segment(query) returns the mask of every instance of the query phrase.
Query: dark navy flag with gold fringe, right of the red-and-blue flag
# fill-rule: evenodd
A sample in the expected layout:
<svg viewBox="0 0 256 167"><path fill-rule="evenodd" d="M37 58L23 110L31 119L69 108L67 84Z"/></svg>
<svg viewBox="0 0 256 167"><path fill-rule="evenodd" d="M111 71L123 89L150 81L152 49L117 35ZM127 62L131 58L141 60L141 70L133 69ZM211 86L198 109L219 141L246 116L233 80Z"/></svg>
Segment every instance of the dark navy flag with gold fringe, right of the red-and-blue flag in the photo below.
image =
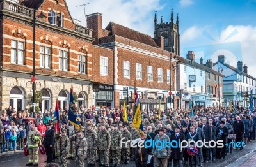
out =
<svg viewBox="0 0 256 167"><path fill-rule="evenodd" d="M69 110L68 110L68 122L72 125L74 125L75 127L77 127L77 129L80 129L79 126L79 122L77 121L77 116L76 116L76 103L74 100L74 92L73 92L73 85L71 86L70 89L70 100L69 100Z"/></svg>

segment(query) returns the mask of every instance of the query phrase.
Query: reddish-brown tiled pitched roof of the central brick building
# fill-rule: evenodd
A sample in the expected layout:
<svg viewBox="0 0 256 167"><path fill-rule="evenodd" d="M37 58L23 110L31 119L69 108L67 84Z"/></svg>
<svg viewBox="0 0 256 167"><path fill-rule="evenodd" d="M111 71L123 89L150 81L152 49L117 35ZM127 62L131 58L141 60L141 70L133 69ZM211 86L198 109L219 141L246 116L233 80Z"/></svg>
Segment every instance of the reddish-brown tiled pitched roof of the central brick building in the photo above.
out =
<svg viewBox="0 0 256 167"><path fill-rule="evenodd" d="M110 31L109 35L122 36L129 40L138 41L140 43L144 43L146 45L158 48L156 42L151 38L151 36L140 33L133 29L129 29L127 27L124 27L123 25L115 24L114 22L109 22L105 29Z"/></svg>

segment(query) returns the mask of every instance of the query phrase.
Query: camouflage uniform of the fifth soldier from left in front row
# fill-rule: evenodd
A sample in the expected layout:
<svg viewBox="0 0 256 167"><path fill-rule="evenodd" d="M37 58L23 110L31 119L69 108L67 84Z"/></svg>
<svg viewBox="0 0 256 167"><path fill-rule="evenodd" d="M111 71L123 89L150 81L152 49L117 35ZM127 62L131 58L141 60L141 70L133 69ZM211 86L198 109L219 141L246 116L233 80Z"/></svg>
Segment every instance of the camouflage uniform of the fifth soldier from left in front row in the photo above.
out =
<svg viewBox="0 0 256 167"><path fill-rule="evenodd" d="M114 164L120 164L121 161L121 138L122 138L122 133L115 129L113 131L113 135L111 137L111 150L113 154L113 163Z"/></svg>

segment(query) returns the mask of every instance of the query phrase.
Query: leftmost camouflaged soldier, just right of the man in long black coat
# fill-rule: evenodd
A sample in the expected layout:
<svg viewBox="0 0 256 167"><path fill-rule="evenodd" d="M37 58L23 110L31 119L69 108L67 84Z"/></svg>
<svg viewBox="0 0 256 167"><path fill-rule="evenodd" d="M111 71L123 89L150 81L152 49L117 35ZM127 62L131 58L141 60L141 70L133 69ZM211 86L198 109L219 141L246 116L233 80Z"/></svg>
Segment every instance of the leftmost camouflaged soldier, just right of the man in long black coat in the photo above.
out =
<svg viewBox="0 0 256 167"><path fill-rule="evenodd" d="M67 156L69 152L69 138L67 136L67 129L62 129L60 134L60 147L58 149L58 157L61 167L67 167Z"/></svg>

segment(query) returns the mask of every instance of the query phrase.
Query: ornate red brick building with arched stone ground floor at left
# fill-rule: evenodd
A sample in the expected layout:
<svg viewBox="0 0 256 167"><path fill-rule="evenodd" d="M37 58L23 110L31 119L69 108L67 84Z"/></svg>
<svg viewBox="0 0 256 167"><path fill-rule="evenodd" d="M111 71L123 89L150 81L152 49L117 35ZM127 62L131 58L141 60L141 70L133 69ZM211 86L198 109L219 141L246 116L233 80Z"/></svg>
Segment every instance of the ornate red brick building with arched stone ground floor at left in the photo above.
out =
<svg viewBox="0 0 256 167"><path fill-rule="evenodd" d="M42 111L49 110L58 98L64 108L71 85L78 96L77 105L92 105L93 64L99 61L99 56L93 55L108 57L113 51L92 45L92 30L74 24L64 0L3 0L0 7L0 109L31 106L34 8L36 16L45 15L36 17L35 29L35 89L43 93L38 105Z"/></svg>

